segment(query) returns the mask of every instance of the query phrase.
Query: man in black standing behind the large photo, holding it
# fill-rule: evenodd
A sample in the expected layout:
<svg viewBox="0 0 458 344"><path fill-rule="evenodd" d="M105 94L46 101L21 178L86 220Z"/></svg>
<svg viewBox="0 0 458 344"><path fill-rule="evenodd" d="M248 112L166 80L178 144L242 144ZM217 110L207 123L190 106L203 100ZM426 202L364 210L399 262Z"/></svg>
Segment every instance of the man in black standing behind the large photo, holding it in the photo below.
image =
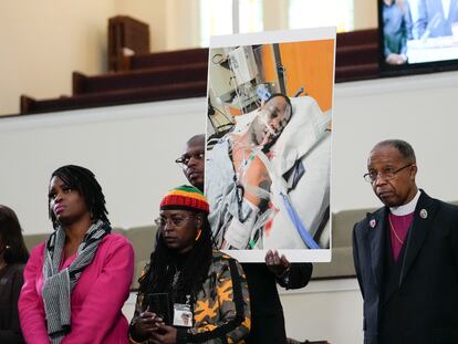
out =
<svg viewBox="0 0 458 344"><path fill-rule="evenodd" d="M205 135L192 136L185 153L177 160L185 176L196 188L204 191ZM190 178L192 176L194 178ZM263 263L242 263L250 292L251 331L247 343L287 343L283 309L277 282L287 289L303 288L309 283L313 265L290 263L284 254L269 250Z"/></svg>

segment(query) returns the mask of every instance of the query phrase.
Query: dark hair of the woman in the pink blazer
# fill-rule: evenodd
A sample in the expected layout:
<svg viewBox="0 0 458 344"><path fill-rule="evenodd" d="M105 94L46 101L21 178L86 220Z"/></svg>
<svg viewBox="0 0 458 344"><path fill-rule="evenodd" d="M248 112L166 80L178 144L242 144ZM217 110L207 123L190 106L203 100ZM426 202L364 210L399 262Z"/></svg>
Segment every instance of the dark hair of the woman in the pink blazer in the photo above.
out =
<svg viewBox="0 0 458 344"><path fill-rule="evenodd" d="M108 211L105 208L105 196L102 187L95 179L94 174L87 168L66 165L58 168L51 175L51 179L59 177L67 187L77 190L83 196L87 209L91 212L92 220L95 222L102 220L110 223L107 218ZM54 228L59 225L54 211L51 209L51 200L48 199L48 210Z"/></svg>

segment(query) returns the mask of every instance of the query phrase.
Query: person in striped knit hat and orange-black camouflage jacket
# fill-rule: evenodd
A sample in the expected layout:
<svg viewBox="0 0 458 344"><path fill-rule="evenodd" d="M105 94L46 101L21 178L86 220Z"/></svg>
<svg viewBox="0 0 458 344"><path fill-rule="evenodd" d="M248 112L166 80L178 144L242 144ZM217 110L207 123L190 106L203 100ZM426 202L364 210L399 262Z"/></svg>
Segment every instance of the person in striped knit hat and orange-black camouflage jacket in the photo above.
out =
<svg viewBox="0 0 458 344"><path fill-rule="evenodd" d="M208 211L204 194L191 186L163 198L162 230L139 280L132 343L243 343L250 330L247 282L235 259L214 251ZM164 293L168 306L159 310L153 300Z"/></svg>

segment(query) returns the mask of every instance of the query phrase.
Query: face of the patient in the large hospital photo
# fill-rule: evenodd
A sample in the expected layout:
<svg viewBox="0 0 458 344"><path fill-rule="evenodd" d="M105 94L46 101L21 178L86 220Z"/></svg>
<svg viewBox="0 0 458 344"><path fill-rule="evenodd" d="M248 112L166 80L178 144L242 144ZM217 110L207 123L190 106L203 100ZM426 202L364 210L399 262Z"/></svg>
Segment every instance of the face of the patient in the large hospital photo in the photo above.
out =
<svg viewBox="0 0 458 344"><path fill-rule="evenodd" d="M291 118L291 106L275 96L262 106L253 123L253 140L261 146L277 139Z"/></svg>

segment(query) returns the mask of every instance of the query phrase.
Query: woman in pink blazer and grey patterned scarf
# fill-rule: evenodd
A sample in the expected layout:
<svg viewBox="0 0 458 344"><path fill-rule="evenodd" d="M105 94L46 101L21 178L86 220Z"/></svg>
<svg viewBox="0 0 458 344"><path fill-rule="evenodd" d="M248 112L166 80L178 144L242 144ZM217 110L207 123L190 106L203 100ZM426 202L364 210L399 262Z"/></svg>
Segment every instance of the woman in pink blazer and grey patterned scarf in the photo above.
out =
<svg viewBox="0 0 458 344"><path fill-rule="evenodd" d="M58 168L48 191L54 232L35 247L24 270L19 315L28 343L128 343L122 306L128 298L134 250L112 233L94 174Z"/></svg>

